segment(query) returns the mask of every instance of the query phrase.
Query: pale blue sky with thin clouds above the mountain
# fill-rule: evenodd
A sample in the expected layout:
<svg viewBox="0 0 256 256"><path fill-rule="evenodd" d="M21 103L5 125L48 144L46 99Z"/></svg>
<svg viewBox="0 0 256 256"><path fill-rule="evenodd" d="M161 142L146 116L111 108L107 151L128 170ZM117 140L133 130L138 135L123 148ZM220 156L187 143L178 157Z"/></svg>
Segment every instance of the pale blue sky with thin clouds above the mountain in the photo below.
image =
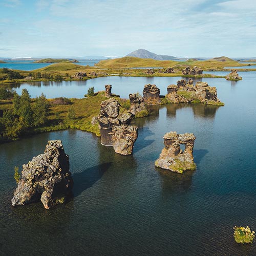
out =
<svg viewBox="0 0 256 256"><path fill-rule="evenodd" d="M0 0L0 57L256 56L254 0Z"/></svg>

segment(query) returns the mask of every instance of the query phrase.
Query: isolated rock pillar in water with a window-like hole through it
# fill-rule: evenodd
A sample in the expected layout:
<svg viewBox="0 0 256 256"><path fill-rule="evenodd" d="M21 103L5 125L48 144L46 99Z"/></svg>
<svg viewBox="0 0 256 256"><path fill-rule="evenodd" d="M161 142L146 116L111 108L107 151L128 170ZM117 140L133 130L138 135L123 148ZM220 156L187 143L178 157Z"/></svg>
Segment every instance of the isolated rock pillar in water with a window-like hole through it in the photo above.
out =
<svg viewBox="0 0 256 256"><path fill-rule="evenodd" d="M157 167L176 173L196 169L193 157L196 137L193 133L177 134L177 132L169 132L163 138L165 147L155 162ZM180 148L181 144L185 145L184 151Z"/></svg>

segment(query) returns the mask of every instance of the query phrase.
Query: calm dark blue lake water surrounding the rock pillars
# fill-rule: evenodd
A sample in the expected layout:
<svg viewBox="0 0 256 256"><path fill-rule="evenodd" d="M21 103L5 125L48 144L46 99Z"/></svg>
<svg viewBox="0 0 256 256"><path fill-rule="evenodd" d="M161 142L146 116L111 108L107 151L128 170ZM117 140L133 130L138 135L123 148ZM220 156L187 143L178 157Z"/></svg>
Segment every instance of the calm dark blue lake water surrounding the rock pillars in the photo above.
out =
<svg viewBox="0 0 256 256"><path fill-rule="evenodd" d="M256 72L240 75L238 82L202 79L217 87L225 106L152 106L151 116L134 121L139 137L132 156L76 130L0 145L0 255L255 256L255 241L236 244L232 229L256 231ZM26 87L33 97L42 91L82 98L88 87L110 83L113 93L128 97L146 83L165 94L178 79L104 77ZM169 131L197 137L195 172L155 168ZM50 210L41 203L12 207L13 167L21 169L52 139L61 139L70 156L74 199Z"/></svg>

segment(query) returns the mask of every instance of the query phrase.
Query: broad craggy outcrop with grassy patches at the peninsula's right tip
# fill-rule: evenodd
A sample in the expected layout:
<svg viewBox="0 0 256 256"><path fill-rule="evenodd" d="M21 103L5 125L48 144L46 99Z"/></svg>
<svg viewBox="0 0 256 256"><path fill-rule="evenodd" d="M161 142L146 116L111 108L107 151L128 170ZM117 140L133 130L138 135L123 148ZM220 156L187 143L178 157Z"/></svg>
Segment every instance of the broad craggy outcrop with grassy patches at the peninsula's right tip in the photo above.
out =
<svg viewBox="0 0 256 256"><path fill-rule="evenodd" d="M202 102L205 104L224 105L217 97L216 87L210 87L207 82L188 82L184 79L177 81L177 85L167 87L166 98L172 103Z"/></svg>

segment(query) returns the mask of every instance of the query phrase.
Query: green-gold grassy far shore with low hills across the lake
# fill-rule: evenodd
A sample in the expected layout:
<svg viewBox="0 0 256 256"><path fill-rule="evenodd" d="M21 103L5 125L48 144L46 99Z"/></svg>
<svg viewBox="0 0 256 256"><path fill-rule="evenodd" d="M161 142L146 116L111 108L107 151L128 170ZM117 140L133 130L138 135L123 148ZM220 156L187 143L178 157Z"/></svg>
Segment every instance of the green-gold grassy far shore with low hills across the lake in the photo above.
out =
<svg viewBox="0 0 256 256"><path fill-rule="evenodd" d="M75 77L75 73L77 72L87 73L87 76L82 78L83 80L102 76L183 76L224 78L224 76L216 76L212 74L182 75L182 70L184 68L193 68L194 66L198 66L204 71L231 70L224 69L225 67L237 67L238 71L256 71L256 66L255 69L239 69L239 67L244 66L244 64L227 57L220 57L205 61L193 59L189 59L187 61L173 61L123 57L118 59L101 60L93 67L80 66L71 63L70 61L61 61L33 71L9 70L8 73L6 69L0 69L0 84L24 81L77 80ZM154 73L147 74L147 67L154 67ZM164 73L165 70L170 67L174 68L175 73ZM15 72L16 74L14 74Z"/></svg>

